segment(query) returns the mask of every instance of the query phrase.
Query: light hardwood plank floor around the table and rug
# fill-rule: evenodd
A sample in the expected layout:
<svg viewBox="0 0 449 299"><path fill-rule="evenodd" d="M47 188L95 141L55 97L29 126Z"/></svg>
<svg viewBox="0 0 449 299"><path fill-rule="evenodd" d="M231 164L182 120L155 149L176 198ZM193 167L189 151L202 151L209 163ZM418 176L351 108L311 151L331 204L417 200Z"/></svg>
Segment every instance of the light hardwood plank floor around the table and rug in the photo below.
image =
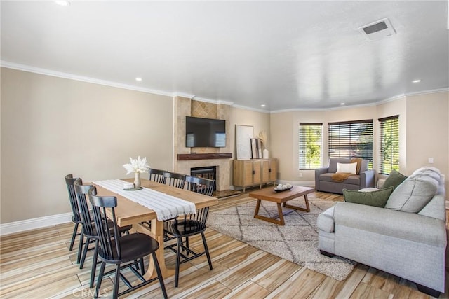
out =
<svg viewBox="0 0 449 299"><path fill-rule="evenodd" d="M253 200L246 193L220 200L213 210ZM341 195L328 193L311 196L342 200ZM92 251L80 270L77 244L73 251L68 249L72 230L73 224L67 223L1 237L0 298L92 298L93 289L88 288ZM184 264L178 288L174 277L165 279L170 298L429 298L410 281L365 265L356 265L346 280L336 281L210 229L206 238L213 270L206 257ZM191 244L202 246L199 238ZM166 251L166 260L173 266L173 253ZM111 289L109 277L102 283L100 298L108 298ZM128 298L161 298L159 284L138 289Z"/></svg>

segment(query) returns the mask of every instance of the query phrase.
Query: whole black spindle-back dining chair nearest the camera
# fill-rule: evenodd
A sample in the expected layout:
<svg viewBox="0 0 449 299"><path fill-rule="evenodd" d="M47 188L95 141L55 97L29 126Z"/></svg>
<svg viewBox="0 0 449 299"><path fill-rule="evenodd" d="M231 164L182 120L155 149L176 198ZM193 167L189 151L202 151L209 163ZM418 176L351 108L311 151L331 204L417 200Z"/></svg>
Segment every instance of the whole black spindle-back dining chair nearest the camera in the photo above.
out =
<svg viewBox="0 0 449 299"><path fill-rule="evenodd" d="M118 298L121 295L135 291L137 288L146 286L147 284L159 279L163 298L167 298L165 284L163 284L163 277L161 268L156 257L156 250L159 249L159 243L149 235L135 232L130 235L120 235L119 226L116 223L115 208L117 207L117 198L114 196L98 196L97 188L88 191L89 201L93 208L93 218L95 221L95 228L97 229L100 247L98 248L98 258L101 261L100 274L98 274L97 285L95 286L94 297L98 298L98 291L100 290L101 282L104 275L115 272L114 277L114 293L112 298ZM107 221L107 214L112 221ZM114 232L114 233L112 233ZM145 267L143 258L152 255L154 261L154 268L157 277L145 280ZM105 273L106 264L114 264L115 270ZM140 272L137 269L140 265ZM142 282L132 286L128 279L121 274L121 269L128 267ZM125 291L119 293L120 279L128 286Z"/></svg>

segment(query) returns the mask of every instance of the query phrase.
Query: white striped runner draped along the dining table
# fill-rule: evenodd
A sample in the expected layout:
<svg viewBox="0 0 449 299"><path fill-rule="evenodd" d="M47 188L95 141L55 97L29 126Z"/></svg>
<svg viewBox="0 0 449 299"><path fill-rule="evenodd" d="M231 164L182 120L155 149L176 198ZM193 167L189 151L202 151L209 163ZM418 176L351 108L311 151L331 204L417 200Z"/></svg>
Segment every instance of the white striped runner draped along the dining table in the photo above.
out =
<svg viewBox="0 0 449 299"><path fill-rule="evenodd" d="M182 200L178 197L161 193L149 188L143 188L142 190L123 190L123 183L119 179L94 181L95 185L117 193L123 197L142 204L142 206L152 209L156 212L157 220L163 221L170 218L175 218L180 215L195 214L196 207L192 202Z"/></svg>

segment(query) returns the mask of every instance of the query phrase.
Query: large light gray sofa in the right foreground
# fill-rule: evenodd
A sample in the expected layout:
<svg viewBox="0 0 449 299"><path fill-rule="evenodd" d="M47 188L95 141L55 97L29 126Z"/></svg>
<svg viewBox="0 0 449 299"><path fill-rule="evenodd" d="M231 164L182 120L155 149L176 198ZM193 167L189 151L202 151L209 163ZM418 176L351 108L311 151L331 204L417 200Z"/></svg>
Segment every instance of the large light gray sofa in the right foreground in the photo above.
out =
<svg viewBox="0 0 449 299"><path fill-rule="evenodd" d="M394 188L384 207L337 202L319 215L317 225L322 254L408 279L436 298L444 293L445 190L438 169L417 169Z"/></svg>

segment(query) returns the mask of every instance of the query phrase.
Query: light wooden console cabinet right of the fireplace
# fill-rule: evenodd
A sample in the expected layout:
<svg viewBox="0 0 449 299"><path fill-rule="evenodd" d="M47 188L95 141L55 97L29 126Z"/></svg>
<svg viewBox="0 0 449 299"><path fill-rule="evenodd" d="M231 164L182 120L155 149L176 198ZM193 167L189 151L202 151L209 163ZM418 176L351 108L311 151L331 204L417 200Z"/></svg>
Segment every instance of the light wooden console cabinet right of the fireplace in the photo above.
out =
<svg viewBox="0 0 449 299"><path fill-rule="evenodd" d="M232 184L243 187L243 192L250 186L262 188L264 183L274 183L277 173L277 159L234 160Z"/></svg>

